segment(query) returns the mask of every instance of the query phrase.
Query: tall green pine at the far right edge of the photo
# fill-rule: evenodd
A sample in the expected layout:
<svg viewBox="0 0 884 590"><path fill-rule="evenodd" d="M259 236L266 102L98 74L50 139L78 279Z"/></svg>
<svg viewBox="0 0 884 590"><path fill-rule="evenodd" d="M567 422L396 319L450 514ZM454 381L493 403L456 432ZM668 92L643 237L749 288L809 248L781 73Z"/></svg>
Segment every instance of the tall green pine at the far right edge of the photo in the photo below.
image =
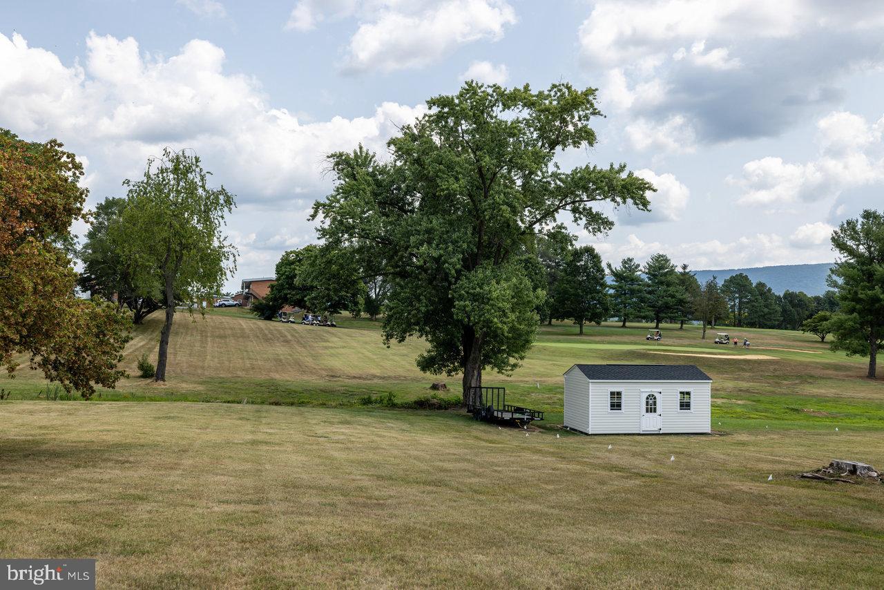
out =
<svg viewBox="0 0 884 590"><path fill-rule="evenodd" d="M840 255L829 276L841 311L828 326L832 349L869 357L869 379L875 379L878 350L884 346L884 215L865 210L832 234Z"/></svg>

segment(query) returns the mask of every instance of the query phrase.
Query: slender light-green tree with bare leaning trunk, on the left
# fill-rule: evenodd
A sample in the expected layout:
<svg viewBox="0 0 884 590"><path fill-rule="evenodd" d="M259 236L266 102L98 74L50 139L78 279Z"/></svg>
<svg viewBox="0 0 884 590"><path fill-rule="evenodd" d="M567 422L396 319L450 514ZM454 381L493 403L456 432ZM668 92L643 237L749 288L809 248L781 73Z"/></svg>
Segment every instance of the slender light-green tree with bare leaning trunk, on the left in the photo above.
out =
<svg viewBox="0 0 884 590"><path fill-rule="evenodd" d="M162 294L165 321L156 356L157 381L164 381L176 302L193 309L220 291L236 262L236 249L223 234L225 214L235 206L223 186L209 186L210 172L187 151L164 149L151 157L141 180L128 187L123 224L126 259L141 296ZM202 310L202 307L200 307Z"/></svg>

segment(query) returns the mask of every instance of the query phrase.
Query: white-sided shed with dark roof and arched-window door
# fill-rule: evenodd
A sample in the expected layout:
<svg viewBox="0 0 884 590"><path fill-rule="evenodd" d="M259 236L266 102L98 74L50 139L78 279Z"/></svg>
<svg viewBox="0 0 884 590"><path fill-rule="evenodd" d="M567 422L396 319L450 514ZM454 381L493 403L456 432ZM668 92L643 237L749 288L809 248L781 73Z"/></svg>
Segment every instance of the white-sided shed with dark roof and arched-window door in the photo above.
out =
<svg viewBox="0 0 884 590"><path fill-rule="evenodd" d="M575 364L565 427L587 434L708 433L712 383L693 364Z"/></svg>

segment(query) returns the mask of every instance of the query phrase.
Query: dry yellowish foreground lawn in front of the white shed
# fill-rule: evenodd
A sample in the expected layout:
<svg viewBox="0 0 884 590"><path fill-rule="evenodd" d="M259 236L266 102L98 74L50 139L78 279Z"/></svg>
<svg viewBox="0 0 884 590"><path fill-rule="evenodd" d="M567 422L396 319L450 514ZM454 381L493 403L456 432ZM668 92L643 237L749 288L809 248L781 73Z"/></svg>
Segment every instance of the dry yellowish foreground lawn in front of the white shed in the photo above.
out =
<svg viewBox="0 0 884 590"><path fill-rule="evenodd" d="M884 436L854 428L557 438L455 412L211 403L3 402L0 419L0 555L95 557L100 587L884 574L884 487L795 478L880 463Z"/></svg>

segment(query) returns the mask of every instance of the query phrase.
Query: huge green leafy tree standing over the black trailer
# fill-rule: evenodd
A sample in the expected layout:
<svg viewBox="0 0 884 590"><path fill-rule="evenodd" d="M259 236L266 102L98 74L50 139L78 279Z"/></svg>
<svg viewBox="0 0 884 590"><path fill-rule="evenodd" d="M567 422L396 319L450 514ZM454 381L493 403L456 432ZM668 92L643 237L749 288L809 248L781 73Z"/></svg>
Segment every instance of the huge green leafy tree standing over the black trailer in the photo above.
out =
<svg viewBox="0 0 884 590"><path fill-rule="evenodd" d="M556 160L596 143L596 90L553 84L547 91L467 82L427 101L380 161L362 146L330 156L334 190L314 206L331 247L363 248L384 261L389 281L383 335L423 338L424 372L463 373L464 395L482 372L512 372L537 331L538 237L569 216L589 234L613 221L602 211L648 211L646 180L625 164Z"/></svg>

